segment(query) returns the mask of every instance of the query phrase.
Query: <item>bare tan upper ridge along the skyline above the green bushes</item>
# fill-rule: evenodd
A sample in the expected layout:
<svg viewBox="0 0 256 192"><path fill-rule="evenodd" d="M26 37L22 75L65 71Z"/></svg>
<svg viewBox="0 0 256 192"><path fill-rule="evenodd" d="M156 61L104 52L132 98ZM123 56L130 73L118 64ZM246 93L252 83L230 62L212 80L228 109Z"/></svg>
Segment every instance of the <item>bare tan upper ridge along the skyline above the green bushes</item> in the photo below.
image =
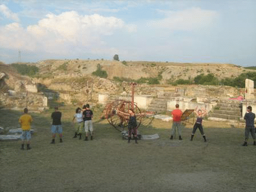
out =
<svg viewBox="0 0 256 192"><path fill-rule="evenodd" d="M107 60L46 60L33 63L40 69L40 77L81 77L93 73L100 65L107 71L107 78L123 77L139 79L141 77L158 77L162 75L161 84L168 79L193 79L197 75L212 73L219 79L237 77L249 69L225 63L167 63L146 61L107 61Z"/></svg>

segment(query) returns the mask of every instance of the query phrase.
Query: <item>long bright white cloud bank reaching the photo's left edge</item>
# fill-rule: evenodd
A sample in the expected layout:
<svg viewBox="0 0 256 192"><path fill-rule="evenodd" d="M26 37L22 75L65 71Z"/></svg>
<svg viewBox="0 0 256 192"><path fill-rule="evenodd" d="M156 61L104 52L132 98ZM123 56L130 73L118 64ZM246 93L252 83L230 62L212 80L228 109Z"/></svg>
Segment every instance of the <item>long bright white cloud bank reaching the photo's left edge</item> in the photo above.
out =
<svg viewBox="0 0 256 192"><path fill-rule="evenodd" d="M117 30L132 32L135 29L136 26L125 25L122 19L116 17L103 17L99 14L79 15L76 11L59 15L51 13L36 25L27 28L23 28L19 23L0 27L0 46L9 49L22 47L31 51L69 53L83 48L96 50L105 43L107 49L104 37L113 35Z"/></svg>

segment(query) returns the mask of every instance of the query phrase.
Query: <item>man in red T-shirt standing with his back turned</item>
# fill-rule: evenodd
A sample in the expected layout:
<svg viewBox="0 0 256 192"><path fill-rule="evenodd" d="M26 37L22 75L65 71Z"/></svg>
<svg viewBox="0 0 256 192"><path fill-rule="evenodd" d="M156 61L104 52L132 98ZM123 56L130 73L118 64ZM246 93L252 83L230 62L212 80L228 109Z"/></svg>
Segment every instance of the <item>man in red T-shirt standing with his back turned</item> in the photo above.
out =
<svg viewBox="0 0 256 192"><path fill-rule="evenodd" d="M171 137L170 139L173 139L173 135L175 134L175 129L178 129L179 133L179 140L182 140L181 138L181 115L182 111L179 109L179 104L175 105L176 109L174 109L171 114L173 115L173 129L171 129Z"/></svg>

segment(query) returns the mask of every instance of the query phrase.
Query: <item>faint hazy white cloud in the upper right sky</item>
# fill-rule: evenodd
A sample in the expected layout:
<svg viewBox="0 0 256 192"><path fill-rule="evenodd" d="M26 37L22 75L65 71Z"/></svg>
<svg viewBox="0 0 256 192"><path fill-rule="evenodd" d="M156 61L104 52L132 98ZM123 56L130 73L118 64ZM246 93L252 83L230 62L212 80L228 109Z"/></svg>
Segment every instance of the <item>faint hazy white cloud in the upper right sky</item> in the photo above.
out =
<svg viewBox="0 0 256 192"><path fill-rule="evenodd" d="M195 30L213 24L218 18L217 11L202 10L198 7L182 11L161 11L166 18L160 21L151 21L150 27L167 28L170 30Z"/></svg>

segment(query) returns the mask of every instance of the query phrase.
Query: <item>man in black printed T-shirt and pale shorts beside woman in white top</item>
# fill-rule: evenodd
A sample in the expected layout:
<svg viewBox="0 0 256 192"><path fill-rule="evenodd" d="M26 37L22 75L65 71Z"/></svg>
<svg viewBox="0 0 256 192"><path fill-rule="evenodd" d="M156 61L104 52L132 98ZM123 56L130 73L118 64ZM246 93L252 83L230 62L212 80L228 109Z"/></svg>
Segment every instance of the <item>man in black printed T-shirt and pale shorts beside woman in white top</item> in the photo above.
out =
<svg viewBox="0 0 256 192"><path fill-rule="evenodd" d="M93 122L91 118L93 118L93 111L90 110L90 105L85 105L86 109L83 111L83 121L85 122L85 141L88 141L89 130L91 132L91 140L93 140Z"/></svg>

